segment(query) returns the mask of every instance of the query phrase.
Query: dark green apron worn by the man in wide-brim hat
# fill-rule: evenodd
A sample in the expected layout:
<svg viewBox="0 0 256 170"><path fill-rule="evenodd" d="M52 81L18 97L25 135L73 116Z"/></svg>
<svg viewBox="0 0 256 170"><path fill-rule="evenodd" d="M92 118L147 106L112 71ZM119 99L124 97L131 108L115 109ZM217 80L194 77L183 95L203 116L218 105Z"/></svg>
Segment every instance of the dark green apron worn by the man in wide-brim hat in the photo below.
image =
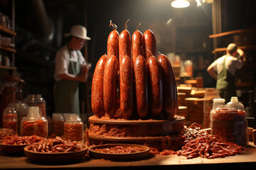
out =
<svg viewBox="0 0 256 170"><path fill-rule="evenodd" d="M70 50L68 49L69 56ZM78 55L78 51L77 51ZM68 74L80 74L80 62L69 62ZM55 84L55 113L80 114L79 81L60 80Z"/></svg>

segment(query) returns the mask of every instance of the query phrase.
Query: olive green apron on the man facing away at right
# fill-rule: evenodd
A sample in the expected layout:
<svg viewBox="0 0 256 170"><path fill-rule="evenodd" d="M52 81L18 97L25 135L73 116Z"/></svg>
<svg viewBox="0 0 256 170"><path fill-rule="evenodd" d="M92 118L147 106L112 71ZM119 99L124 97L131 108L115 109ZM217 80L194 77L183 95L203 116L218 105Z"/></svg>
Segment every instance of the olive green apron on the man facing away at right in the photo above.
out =
<svg viewBox="0 0 256 170"><path fill-rule="evenodd" d="M230 101L235 94L235 76L233 76L225 67L225 60L223 62L223 69L218 74L216 89L220 92L220 98L225 98L225 103Z"/></svg>

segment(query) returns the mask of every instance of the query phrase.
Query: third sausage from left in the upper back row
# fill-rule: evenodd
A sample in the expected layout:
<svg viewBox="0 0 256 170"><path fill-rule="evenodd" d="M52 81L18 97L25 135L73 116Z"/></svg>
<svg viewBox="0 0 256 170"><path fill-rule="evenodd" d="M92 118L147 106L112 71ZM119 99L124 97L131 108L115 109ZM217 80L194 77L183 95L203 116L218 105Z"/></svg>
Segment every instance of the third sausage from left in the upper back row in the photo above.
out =
<svg viewBox="0 0 256 170"><path fill-rule="evenodd" d="M139 55L144 56L143 35L139 30L135 30L132 34L132 64Z"/></svg>

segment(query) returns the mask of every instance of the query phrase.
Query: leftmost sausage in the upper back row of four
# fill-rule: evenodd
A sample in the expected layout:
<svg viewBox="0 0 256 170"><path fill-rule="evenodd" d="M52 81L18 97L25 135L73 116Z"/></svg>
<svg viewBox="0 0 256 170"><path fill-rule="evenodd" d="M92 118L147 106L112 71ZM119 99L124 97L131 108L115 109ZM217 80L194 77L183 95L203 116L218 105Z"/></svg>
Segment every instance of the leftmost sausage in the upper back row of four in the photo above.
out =
<svg viewBox="0 0 256 170"><path fill-rule="evenodd" d="M117 30L112 30L107 38L107 56L114 55L118 57L118 42L119 33L117 32Z"/></svg>

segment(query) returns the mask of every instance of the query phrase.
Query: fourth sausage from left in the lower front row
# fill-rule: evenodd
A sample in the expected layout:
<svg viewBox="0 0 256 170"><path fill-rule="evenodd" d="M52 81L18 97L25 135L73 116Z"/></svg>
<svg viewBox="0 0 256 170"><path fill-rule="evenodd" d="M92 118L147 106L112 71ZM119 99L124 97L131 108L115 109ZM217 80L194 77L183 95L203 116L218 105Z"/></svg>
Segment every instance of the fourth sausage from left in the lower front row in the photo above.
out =
<svg viewBox="0 0 256 170"><path fill-rule="evenodd" d="M149 110L149 95L146 74L146 60L139 55L134 62L137 113L139 118L146 118Z"/></svg>

